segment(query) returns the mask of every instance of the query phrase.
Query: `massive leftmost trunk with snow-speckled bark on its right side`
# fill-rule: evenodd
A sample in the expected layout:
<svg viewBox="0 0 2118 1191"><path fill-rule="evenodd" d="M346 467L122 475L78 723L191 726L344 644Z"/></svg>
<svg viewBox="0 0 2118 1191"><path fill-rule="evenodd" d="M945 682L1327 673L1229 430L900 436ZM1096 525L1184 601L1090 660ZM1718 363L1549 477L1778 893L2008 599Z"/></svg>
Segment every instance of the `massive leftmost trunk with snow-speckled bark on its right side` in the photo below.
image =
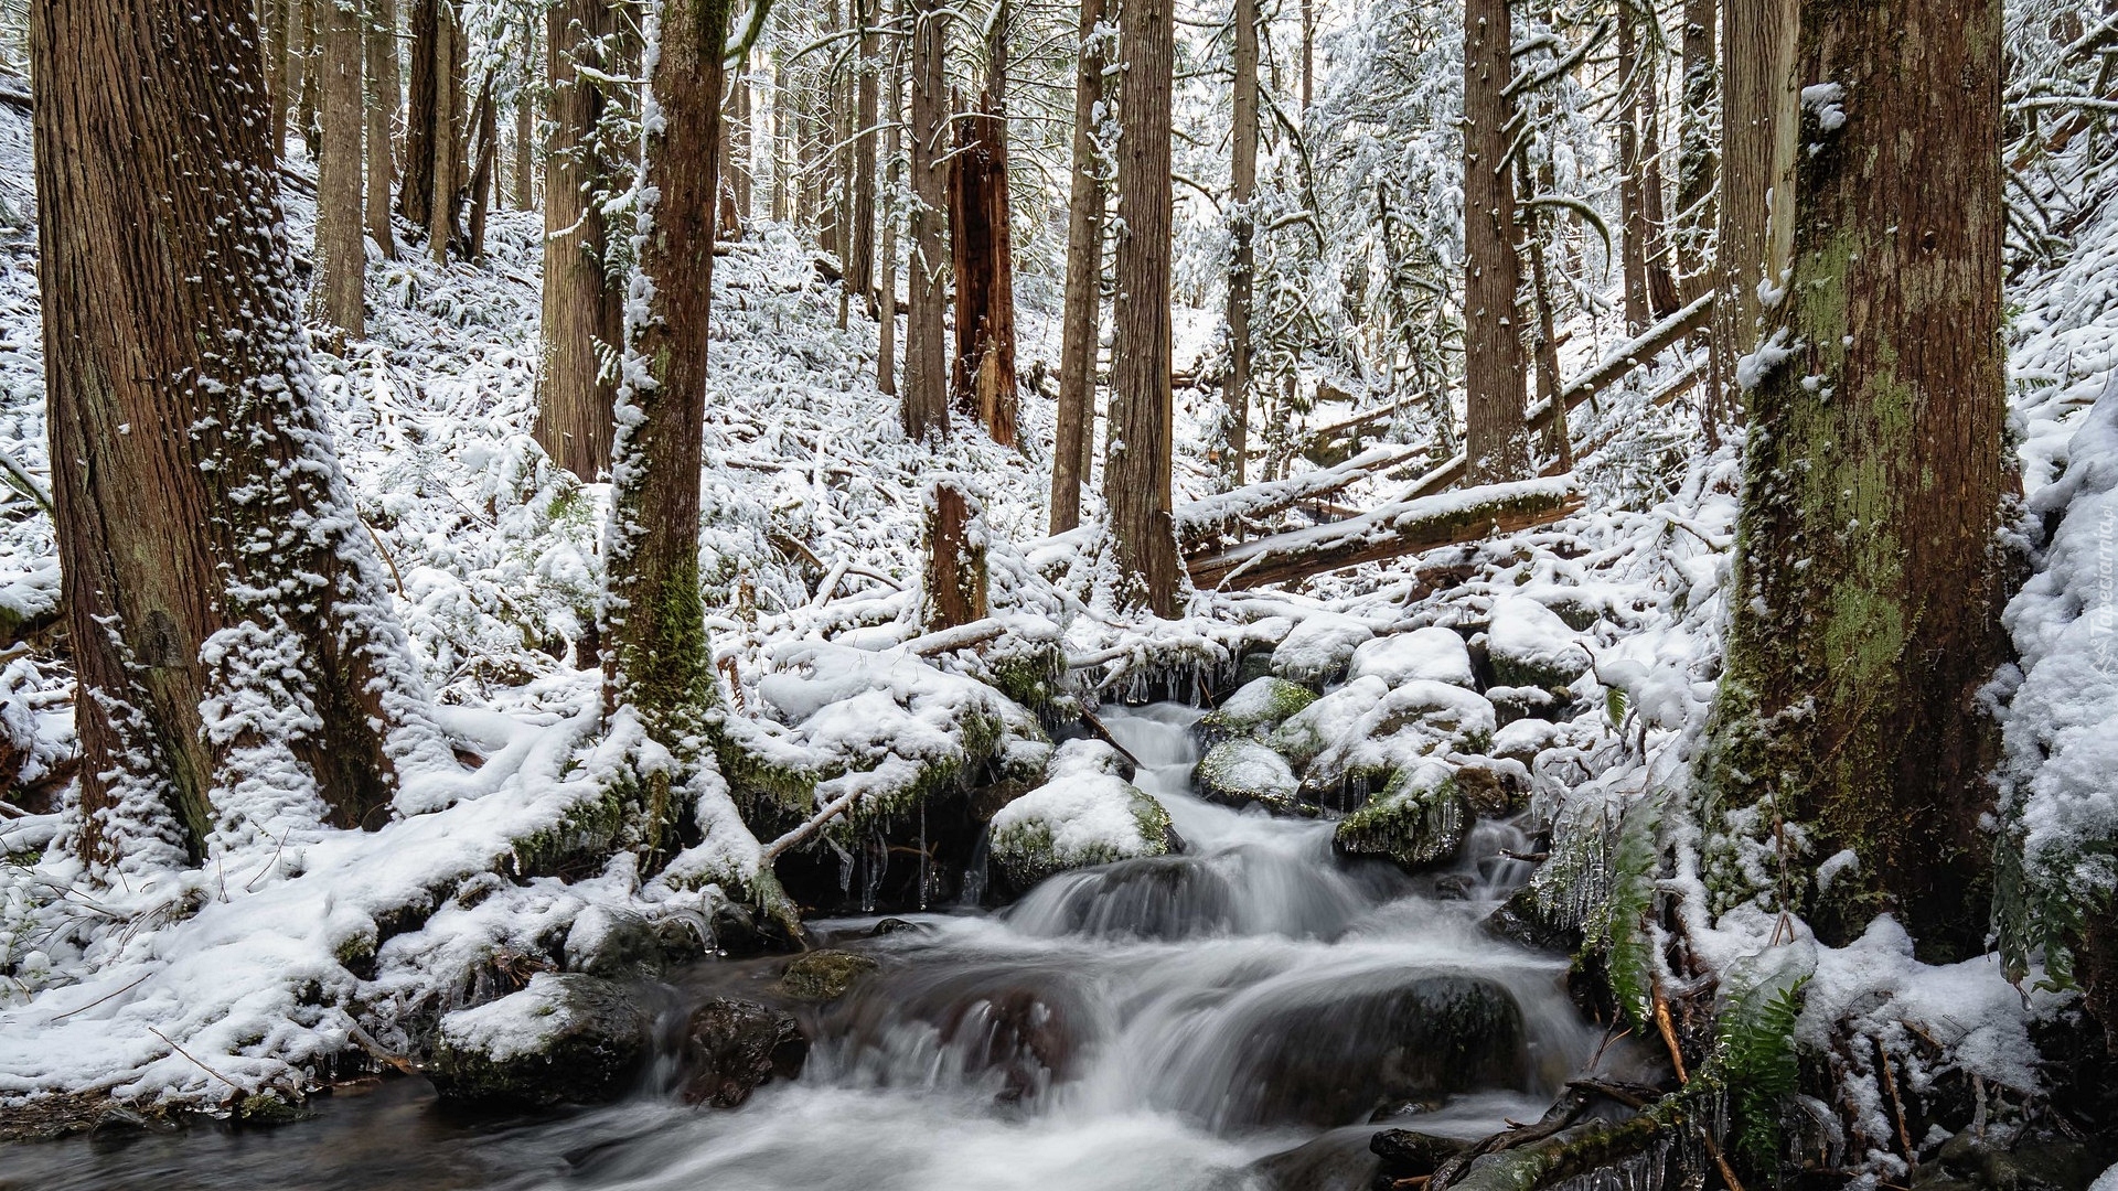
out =
<svg viewBox="0 0 2118 1191"><path fill-rule="evenodd" d="M80 854L375 826L449 754L324 428L248 0L30 13Z"/></svg>

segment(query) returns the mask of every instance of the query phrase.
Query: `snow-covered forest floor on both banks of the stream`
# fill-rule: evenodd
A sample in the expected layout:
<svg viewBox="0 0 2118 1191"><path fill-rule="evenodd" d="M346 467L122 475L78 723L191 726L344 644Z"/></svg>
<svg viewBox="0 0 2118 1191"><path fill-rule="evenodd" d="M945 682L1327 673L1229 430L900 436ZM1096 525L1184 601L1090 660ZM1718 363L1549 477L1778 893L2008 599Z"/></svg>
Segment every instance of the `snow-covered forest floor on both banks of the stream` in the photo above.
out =
<svg viewBox="0 0 2118 1191"><path fill-rule="evenodd" d="M0 110L0 447L42 477L30 178L28 121ZM299 195L286 206L305 252L311 210ZM1025 388L1023 451L962 420L940 447L907 443L894 398L873 381L873 324L856 309L841 326L813 252L788 229L758 227L714 278L701 572L726 731L788 805L779 820L752 812L746 829L733 818L746 776L726 774L697 790L705 843L661 873L642 875L623 852L582 869L582 824L640 742L602 725L597 674L570 644L602 589L606 490L555 470L530 439L540 233L540 216L500 212L479 265L373 263L371 339L318 354L341 464L443 725L474 765L407 776L402 816L381 831L231 839L201 869L93 886L64 848L74 750L64 651L47 632L4 657L11 799L40 799L0 820L0 1102L17 1121L83 1096L138 1110L297 1098L347 1053L419 1053L443 1015L568 964L612 920L710 924L724 899L716 877L758 871L767 822L843 795L902 810L995 774L1048 778L1048 790L1065 778L1044 771L1048 731L1078 706L1226 693L1267 672L1320 687L1351 672L1311 704L1309 740L1275 748L1286 774L1271 782L1381 805L1404 790L1372 790L1372 778L1413 761L1495 774L1514 805L1550 824L1552 860L1531 886L1540 913L1591 935L1608 930L1625 824L1658 814L1675 856L1658 888L1728 990L1807 979L1796 1034L1809 1047L1868 1038L1915 1087L1976 1077L2018 1106L2040 1094L2029 1036L2040 1015L2063 1011L2059 996L2021 994L1995 956L1921 964L1887 920L1849 947L1817 945L1745 894L1769 888L1783 858L1743 850L1743 824L1686 803L1718 674L1737 456L1701 449L1688 401L1652 401L1686 369L1682 352L1576 415L1588 504L1574 517L1298 591L1201 591L1178 621L1127 623L1095 598L1101 551L1044 540L1048 396ZM2084 608L2114 606L2118 396L2095 403L2118 369L2118 212L2090 225L2074 256L2029 271L2012 309L2029 506L2059 523L2067 502L2095 504L2105 526L2103 555L2082 538L2010 610L2027 672L2010 678L2016 708L2040 708L2010 721L2012 776L2050 784L2052 805L2074 810L2048 831L2080 833L2112 818L2095 805L2110 801L2095 774L2118 769L2118 665L2052 659L2086 657L2076 644L2093 642L2065 634L2088 632L2076 627L2093 621ZM1023 358L1051 358L1046 314L1025 309L1023 324ZM1595 354L1578 331L1569 371ZM1180 398L1178 441L1203 441L1216 398ZM2069 441L2101 451L2101 470L2069 475ZM1004 636L976 648L917 640L917 543L940 475L976 496L989 543ZM1188 454L1178 477L1180 500L1209 496L1207 460ZM1334 500L1375 504L1406 481L1377 477ZM2031 549L2046 547L2042 532L2025 521ZM38 623L55 604L51 521L13 498L0 506L0 619ZM1474 672L1453 678L1455 655L1436 661L1408 644L1436 627L1464 642ZM1379 638L1406 644L1370 644ZM1078 826L1106 852L1156 843L1093 807L1044 814L1055 833ZM885 822L873 816L877 831ZM860 841L826 848L851 879L847 848ZM1847 1053L1841 1108L1877 1142L1857 1161L1898 1174L1877 1068Z"/></svg>

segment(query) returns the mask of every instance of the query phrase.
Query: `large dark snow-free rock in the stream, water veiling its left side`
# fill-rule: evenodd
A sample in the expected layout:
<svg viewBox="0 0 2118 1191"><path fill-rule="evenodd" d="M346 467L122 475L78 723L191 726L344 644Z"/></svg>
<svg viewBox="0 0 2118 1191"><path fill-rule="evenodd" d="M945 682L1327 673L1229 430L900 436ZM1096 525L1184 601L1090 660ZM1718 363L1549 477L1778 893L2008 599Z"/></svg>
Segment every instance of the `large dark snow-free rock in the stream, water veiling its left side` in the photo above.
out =
<svg viewBox="0 0 2118 1191"><path fill-rule="evenodd" d="M1226 1085L1201 1089L1220 1102L1216 1127L1341 1125L1379 1104L1529 1079L1523 1013L1483 977L1347 981L1262 1007L1243 1036Z"/></svg>

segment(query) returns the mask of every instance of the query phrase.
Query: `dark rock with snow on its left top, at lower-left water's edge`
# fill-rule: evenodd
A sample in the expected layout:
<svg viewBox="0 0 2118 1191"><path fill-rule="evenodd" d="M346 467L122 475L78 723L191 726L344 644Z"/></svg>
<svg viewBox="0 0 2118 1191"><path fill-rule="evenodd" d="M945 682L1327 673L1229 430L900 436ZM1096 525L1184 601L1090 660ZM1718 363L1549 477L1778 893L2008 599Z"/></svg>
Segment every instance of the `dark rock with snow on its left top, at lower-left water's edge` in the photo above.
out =
<svg viewBox="0 0 2118 1191"><path fill-rule="evenodd" d="M602 1104L648 1055L650 1013L618 983L538 973L519 992L441 1019L428 1074L443 1100Z"/></svg>

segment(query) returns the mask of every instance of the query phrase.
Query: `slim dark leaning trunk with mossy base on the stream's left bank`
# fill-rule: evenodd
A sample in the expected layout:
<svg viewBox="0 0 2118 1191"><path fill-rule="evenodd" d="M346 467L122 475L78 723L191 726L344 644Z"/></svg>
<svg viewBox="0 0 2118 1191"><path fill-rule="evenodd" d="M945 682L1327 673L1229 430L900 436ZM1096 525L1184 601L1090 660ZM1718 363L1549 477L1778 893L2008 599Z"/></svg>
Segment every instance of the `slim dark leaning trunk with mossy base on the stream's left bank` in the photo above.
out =
<svg viewBox="0 0 2118 1191"><path fill-rule="evenodd" d="M633 292L648 299L625 320L606 534L604 704L635 708L680 761L703 744L705 712L720 697L699 600L699 466L726 30L729 0L665 4L659 30L648 23L648 87L663 123L644 144L657 199L640 214ZM650 799L650 848L667 822L667 799Z"/></svg>

